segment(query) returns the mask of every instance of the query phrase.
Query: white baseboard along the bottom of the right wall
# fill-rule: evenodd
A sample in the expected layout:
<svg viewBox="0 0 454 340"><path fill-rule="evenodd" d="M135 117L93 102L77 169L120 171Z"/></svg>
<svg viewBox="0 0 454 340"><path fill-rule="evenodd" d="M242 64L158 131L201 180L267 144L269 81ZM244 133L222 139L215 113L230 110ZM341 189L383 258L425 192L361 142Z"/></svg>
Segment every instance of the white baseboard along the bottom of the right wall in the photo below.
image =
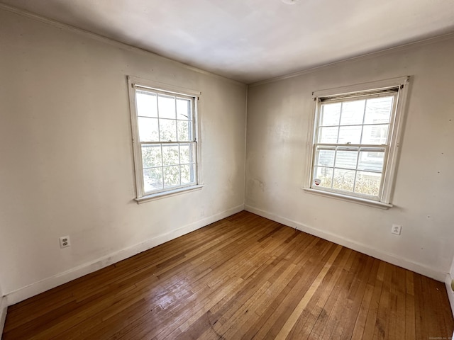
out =
<svg viewBox="0 0 454 340"><path fill-rule="evenodd" d="M428 276L429 278L433 278L441 282L445 280L446 273L433 270L433 268L425 266L422 263L417 263L409 259L403 259L400 256L387 253L386 251L382 251L380 249L373 248L371 246L368 246L367 244L361 244L359 242L355 242L351 239L346 239L345 237L341 237L331 232L325 232L321 229L309 227L308 225L304 225L303 223L289 220L286 217L275 215L271 212L255 208L250 205L245 205L245 210L253 212L254 214L260 215L262 217L266 217L269 220L282 223L283 225L288 225L289 227L297 228L298 230L301 230L301 232L306 232L316 237L320 237L321 239L326 239L336 244L341 244L341 246L346 246L347 248L359 251L362 254L375 257L375 259L380 259L382 261L392 263L396 266L406 268L409 271L414 271L415 273L419 273L423 276Z"/></svg>

